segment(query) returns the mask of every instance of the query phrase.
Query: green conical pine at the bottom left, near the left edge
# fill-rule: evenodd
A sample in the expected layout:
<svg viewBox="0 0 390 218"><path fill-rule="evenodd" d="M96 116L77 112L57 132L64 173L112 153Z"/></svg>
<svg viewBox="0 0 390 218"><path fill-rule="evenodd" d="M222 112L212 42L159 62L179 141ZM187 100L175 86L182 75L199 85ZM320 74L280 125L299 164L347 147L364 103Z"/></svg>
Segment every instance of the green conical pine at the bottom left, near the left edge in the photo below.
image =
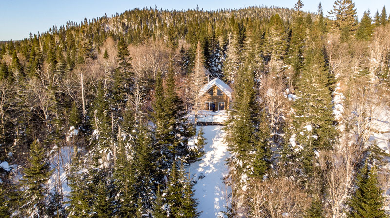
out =
<svg viewBox="0 0 390 218"><path fill-rule="evenodd" d="M34 141L30 146L30 165L24 169L24 174L24 205L21 209L28 216L43 217L47 206L45 199L48 196L44 184L49 180L51 171L45 150L38 141Z"/></svg>

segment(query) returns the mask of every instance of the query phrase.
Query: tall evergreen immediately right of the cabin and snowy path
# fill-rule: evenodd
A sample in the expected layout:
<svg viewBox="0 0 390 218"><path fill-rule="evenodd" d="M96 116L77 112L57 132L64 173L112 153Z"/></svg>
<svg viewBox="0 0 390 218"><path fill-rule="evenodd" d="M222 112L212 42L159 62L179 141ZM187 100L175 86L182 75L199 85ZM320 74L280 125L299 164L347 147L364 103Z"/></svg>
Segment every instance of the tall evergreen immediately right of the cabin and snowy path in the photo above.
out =
<svg viewBox="0 0 390 218"><path fill-rule="evenodd" d="M234 88L234 110L226 127L228 151L232 153L228 164L234 166L238 175L247 176L254 174L255 164L256 176L262 177L267 170L268 145L259 133L259 105L255 99L254 72L250 67L239 70Z"/></svg>

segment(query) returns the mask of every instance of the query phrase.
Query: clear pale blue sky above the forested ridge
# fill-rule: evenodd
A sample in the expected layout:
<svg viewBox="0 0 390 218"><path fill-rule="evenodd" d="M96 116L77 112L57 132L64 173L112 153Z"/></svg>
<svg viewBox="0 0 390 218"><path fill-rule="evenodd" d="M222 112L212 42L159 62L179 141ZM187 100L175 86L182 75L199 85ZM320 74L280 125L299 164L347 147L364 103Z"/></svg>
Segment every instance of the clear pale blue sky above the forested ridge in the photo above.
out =
<svg viewBox="0 0 390 218"><path fill-rule="evenodd" d="M266 5L292 8L297 0L0 0L0 41L20 40L33 34L44 32L54 25L57 27L72 20L77 23L84 17L91 19L122 13L127 9L154 7L163 9L220 9L241 8L244 6ZM302 0L303 10L315 12L320 0ZM334 0L321 0L324 14L332 8ZM354 0L359 19L363 11L370 9L371 16L386 5L390 12L389 0Z"/></svg>

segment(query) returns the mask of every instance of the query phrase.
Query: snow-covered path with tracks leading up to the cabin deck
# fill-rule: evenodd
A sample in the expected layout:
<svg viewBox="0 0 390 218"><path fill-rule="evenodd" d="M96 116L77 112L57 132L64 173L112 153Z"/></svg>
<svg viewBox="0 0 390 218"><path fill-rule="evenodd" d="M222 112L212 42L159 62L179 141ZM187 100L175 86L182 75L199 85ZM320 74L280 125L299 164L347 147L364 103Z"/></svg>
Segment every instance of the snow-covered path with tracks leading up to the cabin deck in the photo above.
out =
<svg viewBox="0 0 390 218"><path fill-rule="evenodd" d="M227 174L225 159L229 152L223 142L225 132L222 128L223 126L203 127L207 143L204 147L205 155L202 160L189 167L191 175L197 181L194 188L195 197L199 201L198 210L203 211L201 218L217 218L225 210L226 191L221 178Z"/></svg>

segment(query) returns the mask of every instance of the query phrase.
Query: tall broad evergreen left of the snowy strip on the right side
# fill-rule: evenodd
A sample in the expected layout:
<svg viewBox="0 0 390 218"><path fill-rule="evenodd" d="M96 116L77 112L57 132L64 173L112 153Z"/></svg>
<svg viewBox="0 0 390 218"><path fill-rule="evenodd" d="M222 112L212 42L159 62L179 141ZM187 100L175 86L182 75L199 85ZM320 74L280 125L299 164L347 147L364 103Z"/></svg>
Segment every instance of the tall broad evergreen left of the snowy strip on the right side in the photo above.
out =
<svg viewBox="0 0 390 218"><path fill-rule="evenodd" d="M301 146L301 164L306 175L312 175L314 150L331 149L335 128L331 104L330 73L325 65L319 34L311 33L312 46L305 51L305 62L297 82L294 101L293 129L296 143Z"/></svg>

